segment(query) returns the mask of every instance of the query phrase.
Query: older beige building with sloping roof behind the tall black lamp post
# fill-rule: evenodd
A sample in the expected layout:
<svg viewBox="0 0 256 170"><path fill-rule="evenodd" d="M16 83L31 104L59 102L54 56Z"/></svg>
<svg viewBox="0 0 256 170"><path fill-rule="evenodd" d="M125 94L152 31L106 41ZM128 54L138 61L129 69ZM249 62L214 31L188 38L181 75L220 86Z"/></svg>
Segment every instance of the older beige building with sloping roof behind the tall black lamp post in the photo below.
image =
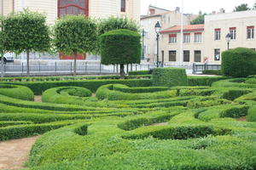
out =
<svg viewBox="0 0 256 170"><path fill-rule="evenodd" d="M154 31L154 26L157 21L160 22L162 30L169 28L171 26L177 26L181 23L182 14L179 11L179 8L176 8L174 11L170 11L163 8L157 8L154 6L148 7L148 15L143 15L141 17L141 28L144 31L143 37L143 58L149 62L156 61L157 55L157 42L156 42L156 32ZM191 20L194 20L198 15L193 14L183 14L183 24L189 25ZM161 44L163 36L160 36L160 47L164 46ZM166 60L166 54L161 52L160 49L160 61Z"/></svg>

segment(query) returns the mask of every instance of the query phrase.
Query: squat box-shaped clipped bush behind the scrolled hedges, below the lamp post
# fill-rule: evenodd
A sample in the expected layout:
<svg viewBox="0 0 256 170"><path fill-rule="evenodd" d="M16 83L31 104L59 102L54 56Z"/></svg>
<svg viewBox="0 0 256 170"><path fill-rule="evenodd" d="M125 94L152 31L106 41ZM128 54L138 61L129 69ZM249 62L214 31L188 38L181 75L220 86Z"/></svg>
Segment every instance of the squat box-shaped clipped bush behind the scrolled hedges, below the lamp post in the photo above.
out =
<svg viewBox="0 0 256 170"><path fill-rule="evenodd" d="M187 86L188 78L185 69L156 68L153 71L153 86Z"/></svg>

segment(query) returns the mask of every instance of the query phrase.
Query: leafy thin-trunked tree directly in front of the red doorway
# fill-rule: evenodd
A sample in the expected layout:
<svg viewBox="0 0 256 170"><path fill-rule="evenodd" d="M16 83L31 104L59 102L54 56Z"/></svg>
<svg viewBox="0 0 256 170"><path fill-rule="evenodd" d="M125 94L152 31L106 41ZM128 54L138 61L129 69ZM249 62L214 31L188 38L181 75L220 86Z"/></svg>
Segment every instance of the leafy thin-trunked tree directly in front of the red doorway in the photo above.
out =
<svg viewBox="0 0 256 170"><path fill-rule="evenodd" d="M84 15L66 15L55 23L55 48L62 54L73 55L74 75L77 71L78 54L93 52L96 48L96 40L96 22L85 18Z"/></svg>

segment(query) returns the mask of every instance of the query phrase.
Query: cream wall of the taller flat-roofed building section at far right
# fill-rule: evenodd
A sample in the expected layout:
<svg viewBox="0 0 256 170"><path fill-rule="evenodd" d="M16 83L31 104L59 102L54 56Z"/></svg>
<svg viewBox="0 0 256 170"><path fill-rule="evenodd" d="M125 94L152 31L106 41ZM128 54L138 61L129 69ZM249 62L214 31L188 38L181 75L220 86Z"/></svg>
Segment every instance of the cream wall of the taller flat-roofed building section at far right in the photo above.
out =
<svg viewBox="0 0 256 170"><path fill-rule="evenodd" d="M214 49L219 48L220 52L226 50L226 35L230 27L236 27L236 40L230 41L230 48L256 48L256 34L254 39L247 39L247 26L254 26L256 29L256 10L243 11L230 14L212 14L205 18L205 57L210 63L220 64L214 60ZM214 30L221 29L221 40L214 40ZM255 30L256 31L256 30Z"/></svg>

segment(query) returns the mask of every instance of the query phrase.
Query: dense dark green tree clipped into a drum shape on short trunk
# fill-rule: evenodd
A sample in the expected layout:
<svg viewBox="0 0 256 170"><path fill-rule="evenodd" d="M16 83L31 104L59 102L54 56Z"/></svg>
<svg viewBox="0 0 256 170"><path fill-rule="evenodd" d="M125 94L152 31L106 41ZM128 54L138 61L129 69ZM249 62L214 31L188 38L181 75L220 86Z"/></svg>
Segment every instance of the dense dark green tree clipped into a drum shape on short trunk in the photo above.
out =
<svg viewBox="0 0 256 170"><path fill-rule="evenodd" d="M125 65L141 62L141 36L136 31L108 31L100 37L102 64L120 65L120 75L125 75Z"/></svg>

